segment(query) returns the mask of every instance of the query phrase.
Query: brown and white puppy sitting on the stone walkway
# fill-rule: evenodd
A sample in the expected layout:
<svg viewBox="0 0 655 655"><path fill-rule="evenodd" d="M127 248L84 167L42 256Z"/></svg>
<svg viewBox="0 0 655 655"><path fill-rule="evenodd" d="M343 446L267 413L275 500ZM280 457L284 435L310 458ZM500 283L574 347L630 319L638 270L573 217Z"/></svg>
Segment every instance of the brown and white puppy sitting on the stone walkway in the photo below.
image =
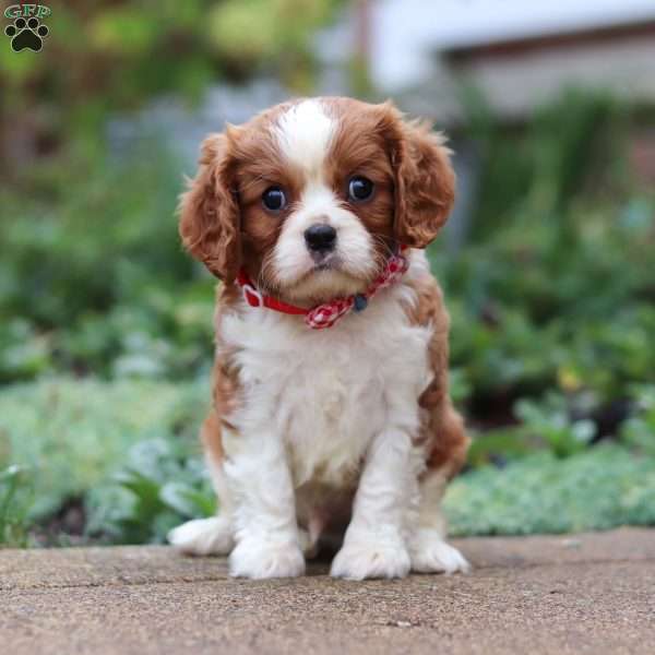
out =
<svg viewBox="0 0 655 655"><path fill-rule="evenodd" d="M233 575L293 576L347 525L332 575L467 568L440 512L468 440L422 251L454 184L442 138L390 103L294 100L205 140L180 234L223 281L202 429L221 509L172 531L175 546L230 553ZM398 247L408 269L368 297ZM247 302L243 281L274 307ZM298 315L356 295L368 306L330 329Z"/></svg>

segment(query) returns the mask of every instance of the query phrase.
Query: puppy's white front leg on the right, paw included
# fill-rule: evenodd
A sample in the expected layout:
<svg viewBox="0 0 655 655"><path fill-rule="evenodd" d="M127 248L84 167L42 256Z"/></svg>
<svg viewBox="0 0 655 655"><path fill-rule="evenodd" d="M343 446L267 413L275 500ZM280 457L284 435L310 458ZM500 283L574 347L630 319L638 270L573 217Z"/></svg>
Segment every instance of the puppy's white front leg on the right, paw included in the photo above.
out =
<svg viewBox="0 0 655 655"><path fill-rule="evenodd" d="M401 429L389 429L374 440L332 575L349 580L407 575L410 560L405 538L416 495L415 451L409 434Z"/></svg>

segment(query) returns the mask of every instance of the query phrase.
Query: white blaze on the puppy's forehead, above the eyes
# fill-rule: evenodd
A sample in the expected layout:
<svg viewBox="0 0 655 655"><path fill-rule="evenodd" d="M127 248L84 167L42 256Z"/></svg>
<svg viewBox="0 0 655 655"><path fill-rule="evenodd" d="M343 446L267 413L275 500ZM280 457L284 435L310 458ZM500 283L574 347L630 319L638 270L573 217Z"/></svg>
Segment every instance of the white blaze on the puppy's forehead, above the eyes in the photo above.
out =
<svg viewBox="0 0 655 655"><path fill-rule="evenodd" d="M293 105L273 127L284 156L308 177L320 176L335 130L336 121L315 99Z"/></svg>

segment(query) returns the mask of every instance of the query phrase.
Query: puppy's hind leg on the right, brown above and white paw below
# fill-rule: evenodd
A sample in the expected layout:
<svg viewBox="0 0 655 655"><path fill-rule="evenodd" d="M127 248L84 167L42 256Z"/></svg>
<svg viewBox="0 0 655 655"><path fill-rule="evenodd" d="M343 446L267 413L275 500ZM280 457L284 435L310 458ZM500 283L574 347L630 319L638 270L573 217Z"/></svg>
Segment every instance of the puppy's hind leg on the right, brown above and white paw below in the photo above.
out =
<svg viewBox="0 0 655 655"><path fill-rule="evenodd" d="M434 413L433 419L437 440L420 479L418 522L409 538L412 570L420 573L466 572L471 568L468 562L456 548L445 543L441 499L449 478L464 462L468 438L460 415L450 402Z"/></svg>

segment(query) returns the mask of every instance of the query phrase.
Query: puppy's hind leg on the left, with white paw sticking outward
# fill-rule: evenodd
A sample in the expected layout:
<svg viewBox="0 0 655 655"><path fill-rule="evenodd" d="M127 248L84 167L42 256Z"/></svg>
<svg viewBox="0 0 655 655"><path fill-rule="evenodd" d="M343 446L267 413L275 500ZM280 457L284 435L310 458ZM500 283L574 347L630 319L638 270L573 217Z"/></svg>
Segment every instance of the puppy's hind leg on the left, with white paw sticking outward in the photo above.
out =
<svg viewBox="0 0 655 655"><path fill-rule="evenodd" d="M223 471L221 425L214 412L205 419L201 432L207 466L218 497L218 514L211 519L188 521L168 533L168 541L187 555L228 555L234 547L234 503Z"/></svg>

